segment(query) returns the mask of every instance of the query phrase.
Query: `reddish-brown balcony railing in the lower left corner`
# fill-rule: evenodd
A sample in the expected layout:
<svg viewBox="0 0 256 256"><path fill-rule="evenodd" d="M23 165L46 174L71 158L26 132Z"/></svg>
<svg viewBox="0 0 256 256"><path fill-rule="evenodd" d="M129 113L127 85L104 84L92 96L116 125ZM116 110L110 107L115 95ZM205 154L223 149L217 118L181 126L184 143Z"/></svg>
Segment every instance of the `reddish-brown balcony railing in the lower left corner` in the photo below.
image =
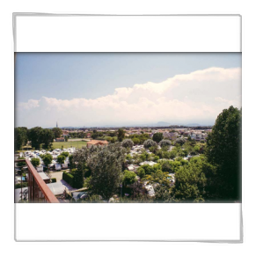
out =
<svg viewBox="0 0 256 256"><path fill-rule="evenodd" d="M28 169L27 177L27 187L28 187L28 202L50 202L50 203L59 203L55 194L49 189L47 184L41 179L39 173L35 170L33 165L28 159L18 159L14 162L26 162Z"/></svg>

